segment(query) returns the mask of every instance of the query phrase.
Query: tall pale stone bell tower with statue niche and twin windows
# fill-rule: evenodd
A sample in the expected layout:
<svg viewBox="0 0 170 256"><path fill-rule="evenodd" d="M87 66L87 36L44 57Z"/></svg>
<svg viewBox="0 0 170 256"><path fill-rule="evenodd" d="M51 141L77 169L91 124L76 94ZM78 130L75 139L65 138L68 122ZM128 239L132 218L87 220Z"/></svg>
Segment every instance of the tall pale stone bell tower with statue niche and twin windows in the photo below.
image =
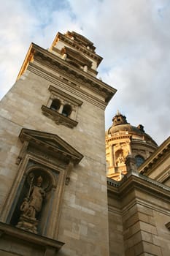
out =
<svg viewBox="0 0 170 256"><path fill-rule="evenodd" d="M96 78L95 50L70 31L49 50L32 43L1 100L1 255L109 254L104 110L116 90Z"/></svg>

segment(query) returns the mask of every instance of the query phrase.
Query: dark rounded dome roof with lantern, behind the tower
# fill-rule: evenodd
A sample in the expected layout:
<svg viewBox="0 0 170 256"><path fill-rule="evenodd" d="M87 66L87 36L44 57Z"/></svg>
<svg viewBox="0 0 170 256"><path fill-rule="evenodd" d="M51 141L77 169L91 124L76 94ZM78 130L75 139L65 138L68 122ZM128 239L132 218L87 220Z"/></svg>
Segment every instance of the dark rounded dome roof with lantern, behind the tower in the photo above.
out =
<svg viewBox="0 0 170 256"><path fill-rule="evenodd" d="M117 114L112 118L112 127L106 132L106 135L113 135L117 132L128 132L131 135L138 135L139 137L143 138L142 140L146 140L148 143L152 143L154 146L158 146L155 143L150 135L144 132L144 127L142 124L139 124L138 127L134 127L126 121L126 117L123 116L119 111Z"/></svg>

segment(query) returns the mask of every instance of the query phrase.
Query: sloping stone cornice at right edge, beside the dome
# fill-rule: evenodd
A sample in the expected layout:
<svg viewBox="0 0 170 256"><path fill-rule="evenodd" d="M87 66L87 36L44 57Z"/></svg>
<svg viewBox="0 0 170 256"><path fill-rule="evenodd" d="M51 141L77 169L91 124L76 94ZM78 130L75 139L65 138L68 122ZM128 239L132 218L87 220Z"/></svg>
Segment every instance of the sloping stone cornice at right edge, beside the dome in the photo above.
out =
<svg viewBox="0 0 170 256"><path fill-rule="evenodd" d="M151 156L144 161L142 165L139 166L139 173L144 173L147 175L148 173L152 172L152 169L155 166L158 166L161 164L162 159L164 159L167 154L170 154L170 137L167 138L161 146L159 146L152 154Z"/></svg>

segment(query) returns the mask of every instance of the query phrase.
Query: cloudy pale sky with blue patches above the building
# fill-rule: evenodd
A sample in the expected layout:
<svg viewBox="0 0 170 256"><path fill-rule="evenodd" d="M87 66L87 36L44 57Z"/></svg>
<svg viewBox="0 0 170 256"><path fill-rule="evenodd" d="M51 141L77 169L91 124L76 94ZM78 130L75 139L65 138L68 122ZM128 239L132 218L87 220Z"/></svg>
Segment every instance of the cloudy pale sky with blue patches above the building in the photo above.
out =
<svg viewBox="0 0 170 256"><path fill-rule="evenodd" d="M170 135L170 0L8 0L0 10L0 97L15 83L31 42L50 47L77 31L104 58L98 78L117 89L117 109L161 144Z"/></svg>

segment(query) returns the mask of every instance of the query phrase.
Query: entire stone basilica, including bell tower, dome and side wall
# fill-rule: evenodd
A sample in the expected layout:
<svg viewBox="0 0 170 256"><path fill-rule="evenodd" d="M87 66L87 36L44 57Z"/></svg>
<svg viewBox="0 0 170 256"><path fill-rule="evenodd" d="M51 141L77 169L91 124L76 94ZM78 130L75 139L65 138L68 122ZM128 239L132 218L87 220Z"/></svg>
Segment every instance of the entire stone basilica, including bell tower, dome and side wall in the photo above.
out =
<svg viewBox="0 0 170 256"><path fill-rule="evenodd" d="M74 31L31 43L1 100L0 255L170 254L170 138L119 111L105 132L101 60Z"/></svg>

